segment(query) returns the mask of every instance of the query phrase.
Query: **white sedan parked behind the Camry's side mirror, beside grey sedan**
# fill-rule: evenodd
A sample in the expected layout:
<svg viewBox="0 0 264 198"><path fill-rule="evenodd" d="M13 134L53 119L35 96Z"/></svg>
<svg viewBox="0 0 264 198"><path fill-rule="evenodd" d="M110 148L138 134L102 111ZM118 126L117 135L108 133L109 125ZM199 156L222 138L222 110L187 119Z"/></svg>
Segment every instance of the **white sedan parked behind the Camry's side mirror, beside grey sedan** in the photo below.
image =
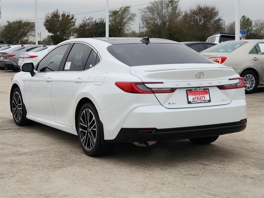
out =
<svg viewBox="0 0 264 198"><path fill-rule="evenodd" d="M21 66L24 63L29 63L29 62L35 65L45 54L47 54L54 47L55 45L50 45L50 46L44 45L39 48L33 49L29 52L20 53L18 66Z"/></svg>

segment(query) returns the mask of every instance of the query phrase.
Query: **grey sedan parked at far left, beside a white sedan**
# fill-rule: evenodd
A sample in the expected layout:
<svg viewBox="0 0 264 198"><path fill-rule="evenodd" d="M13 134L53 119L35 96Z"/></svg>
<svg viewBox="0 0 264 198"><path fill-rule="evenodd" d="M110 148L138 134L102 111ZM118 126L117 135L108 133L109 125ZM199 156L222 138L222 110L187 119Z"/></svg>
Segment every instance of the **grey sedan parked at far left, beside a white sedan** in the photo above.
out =
<svg viewBox="0 0 264 198"><path fill-rule="evenodd" d="M18 66L20 53L28 52L32 49L38 48L43 45L19 45L9 51L0 52L0 67L1 69L7 68L13 71L20 70Z"/></svg>

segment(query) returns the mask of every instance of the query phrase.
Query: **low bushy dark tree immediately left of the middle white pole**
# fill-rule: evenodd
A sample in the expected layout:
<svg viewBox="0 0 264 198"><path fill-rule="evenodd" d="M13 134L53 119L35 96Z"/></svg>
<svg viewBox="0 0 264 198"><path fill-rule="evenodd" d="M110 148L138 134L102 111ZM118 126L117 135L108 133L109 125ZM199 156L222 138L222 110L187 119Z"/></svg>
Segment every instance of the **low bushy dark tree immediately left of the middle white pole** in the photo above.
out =
<svg viewBox="0 0 264 198"><path fill-rule="evenodd" d="M83 18L81 23L75 29L76 38L91 38L105 36L105 20L98 18L93 20L92 17Z"/></svg>

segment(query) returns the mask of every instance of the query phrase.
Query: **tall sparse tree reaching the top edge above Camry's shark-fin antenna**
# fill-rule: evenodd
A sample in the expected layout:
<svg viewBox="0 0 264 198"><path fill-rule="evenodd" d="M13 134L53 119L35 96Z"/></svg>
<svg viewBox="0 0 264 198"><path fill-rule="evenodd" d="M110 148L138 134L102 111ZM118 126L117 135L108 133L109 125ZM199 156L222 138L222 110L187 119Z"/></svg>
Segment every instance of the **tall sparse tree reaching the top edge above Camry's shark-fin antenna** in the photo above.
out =
<svg viewBox="0 0 264 198"><path fill-rule="evenodd" d="M139 9L145 33L151 37L180 39L178 19L181 16L181 11L178 4L179 0L157 0Z"/></svg>

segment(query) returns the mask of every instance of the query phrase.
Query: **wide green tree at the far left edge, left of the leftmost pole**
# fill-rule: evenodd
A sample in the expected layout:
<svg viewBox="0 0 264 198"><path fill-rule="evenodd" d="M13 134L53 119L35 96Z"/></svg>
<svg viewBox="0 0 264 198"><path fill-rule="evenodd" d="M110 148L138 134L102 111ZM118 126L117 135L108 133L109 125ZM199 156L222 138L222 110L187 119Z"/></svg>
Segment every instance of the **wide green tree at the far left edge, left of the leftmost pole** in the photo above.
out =
<svg viewBox="0 0 264 198"><path fill-rule="evenodd" d="M7 21L0 36L8 44L26 44L35 35L35 23L23 20Z"/></svg>

